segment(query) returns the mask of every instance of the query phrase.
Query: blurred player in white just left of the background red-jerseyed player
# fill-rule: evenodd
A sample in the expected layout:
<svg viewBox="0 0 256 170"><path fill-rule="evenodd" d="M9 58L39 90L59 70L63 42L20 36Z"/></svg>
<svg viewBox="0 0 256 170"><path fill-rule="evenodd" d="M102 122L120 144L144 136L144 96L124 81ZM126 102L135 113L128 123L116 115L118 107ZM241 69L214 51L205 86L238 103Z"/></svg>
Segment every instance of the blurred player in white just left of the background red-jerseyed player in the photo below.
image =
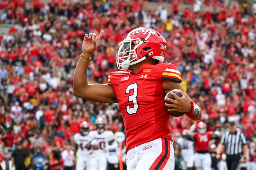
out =
<svg viewBox="0 0 256 170"><path fill-rule="evenodd" d="M190 139L190 134L188 129L184 129L182 131L182 137L177 139L177 143L179 143L181 148L181 157L184 161L183 170L192 170L194 164L194 142Z"/></svg>

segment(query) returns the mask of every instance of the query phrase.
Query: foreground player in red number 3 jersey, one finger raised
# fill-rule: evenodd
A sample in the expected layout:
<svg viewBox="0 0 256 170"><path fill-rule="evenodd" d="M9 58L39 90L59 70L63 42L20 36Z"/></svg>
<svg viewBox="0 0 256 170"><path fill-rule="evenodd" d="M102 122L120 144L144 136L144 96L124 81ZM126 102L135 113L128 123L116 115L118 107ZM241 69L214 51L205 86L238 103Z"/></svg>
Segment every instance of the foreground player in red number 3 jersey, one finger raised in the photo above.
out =
<svg viewBox="0 0 256 170"><path fill-rule="evenodd" d="M174 169L170 115L163 100L173 89L182 97L167 98L168 111L184 112L192 120L201 118L198 105L190 101L181 87L181 74L171 63L163 63L164 37L154 29L132 30L119 44L116 64L119 72L109 73L107 84L89 84L87 69L92 53L104 31L85 34L74 79L73 94L101 103L119 103L126 131L127 169Z"/></svg>

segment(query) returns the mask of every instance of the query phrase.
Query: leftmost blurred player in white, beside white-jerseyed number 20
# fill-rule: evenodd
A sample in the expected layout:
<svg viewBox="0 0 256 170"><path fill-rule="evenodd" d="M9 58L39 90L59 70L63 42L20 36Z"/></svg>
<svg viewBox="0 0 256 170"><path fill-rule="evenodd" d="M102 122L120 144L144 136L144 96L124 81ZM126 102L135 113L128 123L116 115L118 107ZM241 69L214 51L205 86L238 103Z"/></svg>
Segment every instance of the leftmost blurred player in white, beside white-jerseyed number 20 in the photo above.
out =
<svg viewBox="0 0 256 170"><path fill-rule="evenodd" d="M89 125L86 121L80 124L80 133L75 134L74 141L76 143L76 151L77 154L77 162L76 162L76 170L86 170L89 169L90 163L90 142L92 138L90 138L89 134ZM76 153L76 152L75 152Z"/></svg>

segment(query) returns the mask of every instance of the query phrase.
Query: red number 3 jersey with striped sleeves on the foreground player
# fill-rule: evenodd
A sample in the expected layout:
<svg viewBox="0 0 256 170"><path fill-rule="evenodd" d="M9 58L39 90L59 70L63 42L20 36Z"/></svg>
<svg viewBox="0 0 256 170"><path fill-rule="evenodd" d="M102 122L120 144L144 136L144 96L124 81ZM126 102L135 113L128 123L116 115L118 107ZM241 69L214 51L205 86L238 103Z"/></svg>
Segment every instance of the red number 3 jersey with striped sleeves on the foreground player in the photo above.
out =
<svg viewBox="0 0 256 170"><path fill-rule="evenodd" d="M173 142L170 115L163 105L166 80L181 82L175 65L144 64L135 75L123 71L109 74L108 85L113 87L124 118L127 151L158 138Z"/></svg>

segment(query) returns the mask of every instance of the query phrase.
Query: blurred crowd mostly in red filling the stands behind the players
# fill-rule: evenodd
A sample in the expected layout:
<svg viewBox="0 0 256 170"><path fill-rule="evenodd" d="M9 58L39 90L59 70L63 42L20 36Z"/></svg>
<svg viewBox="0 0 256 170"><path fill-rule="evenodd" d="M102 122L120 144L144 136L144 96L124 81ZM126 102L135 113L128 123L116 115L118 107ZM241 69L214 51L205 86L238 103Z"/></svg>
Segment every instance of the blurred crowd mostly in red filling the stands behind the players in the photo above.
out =
<svg viewBox="0 0 256 170"><path fill-rule="evenodd" d="M108 130L124 131L118 104L76 98L72 78L85 33L105 31L87 76L89 83L107 83L109 72L117 71L118 43L136 27L154 28L165 37L165 62L180 70L182 87L201 107L208 130L221 135L230 119L253 140L256 4L251 9L235 1L229 6L218 0L168 2L172 9L152 10L143 0L0 1L0 23L13 24L0 34L0 123L7 130L0 159L22 145L26 166L42 169L35 163L39 156L58 162L60 152L73 146L79 124L87 121L94 129L98 117L108 118ZM179 12L180 4L193 8ZM205 5L213 6L212 12L201 12ZM171 119L174 138L193 123L186 116Z"/></svg>

